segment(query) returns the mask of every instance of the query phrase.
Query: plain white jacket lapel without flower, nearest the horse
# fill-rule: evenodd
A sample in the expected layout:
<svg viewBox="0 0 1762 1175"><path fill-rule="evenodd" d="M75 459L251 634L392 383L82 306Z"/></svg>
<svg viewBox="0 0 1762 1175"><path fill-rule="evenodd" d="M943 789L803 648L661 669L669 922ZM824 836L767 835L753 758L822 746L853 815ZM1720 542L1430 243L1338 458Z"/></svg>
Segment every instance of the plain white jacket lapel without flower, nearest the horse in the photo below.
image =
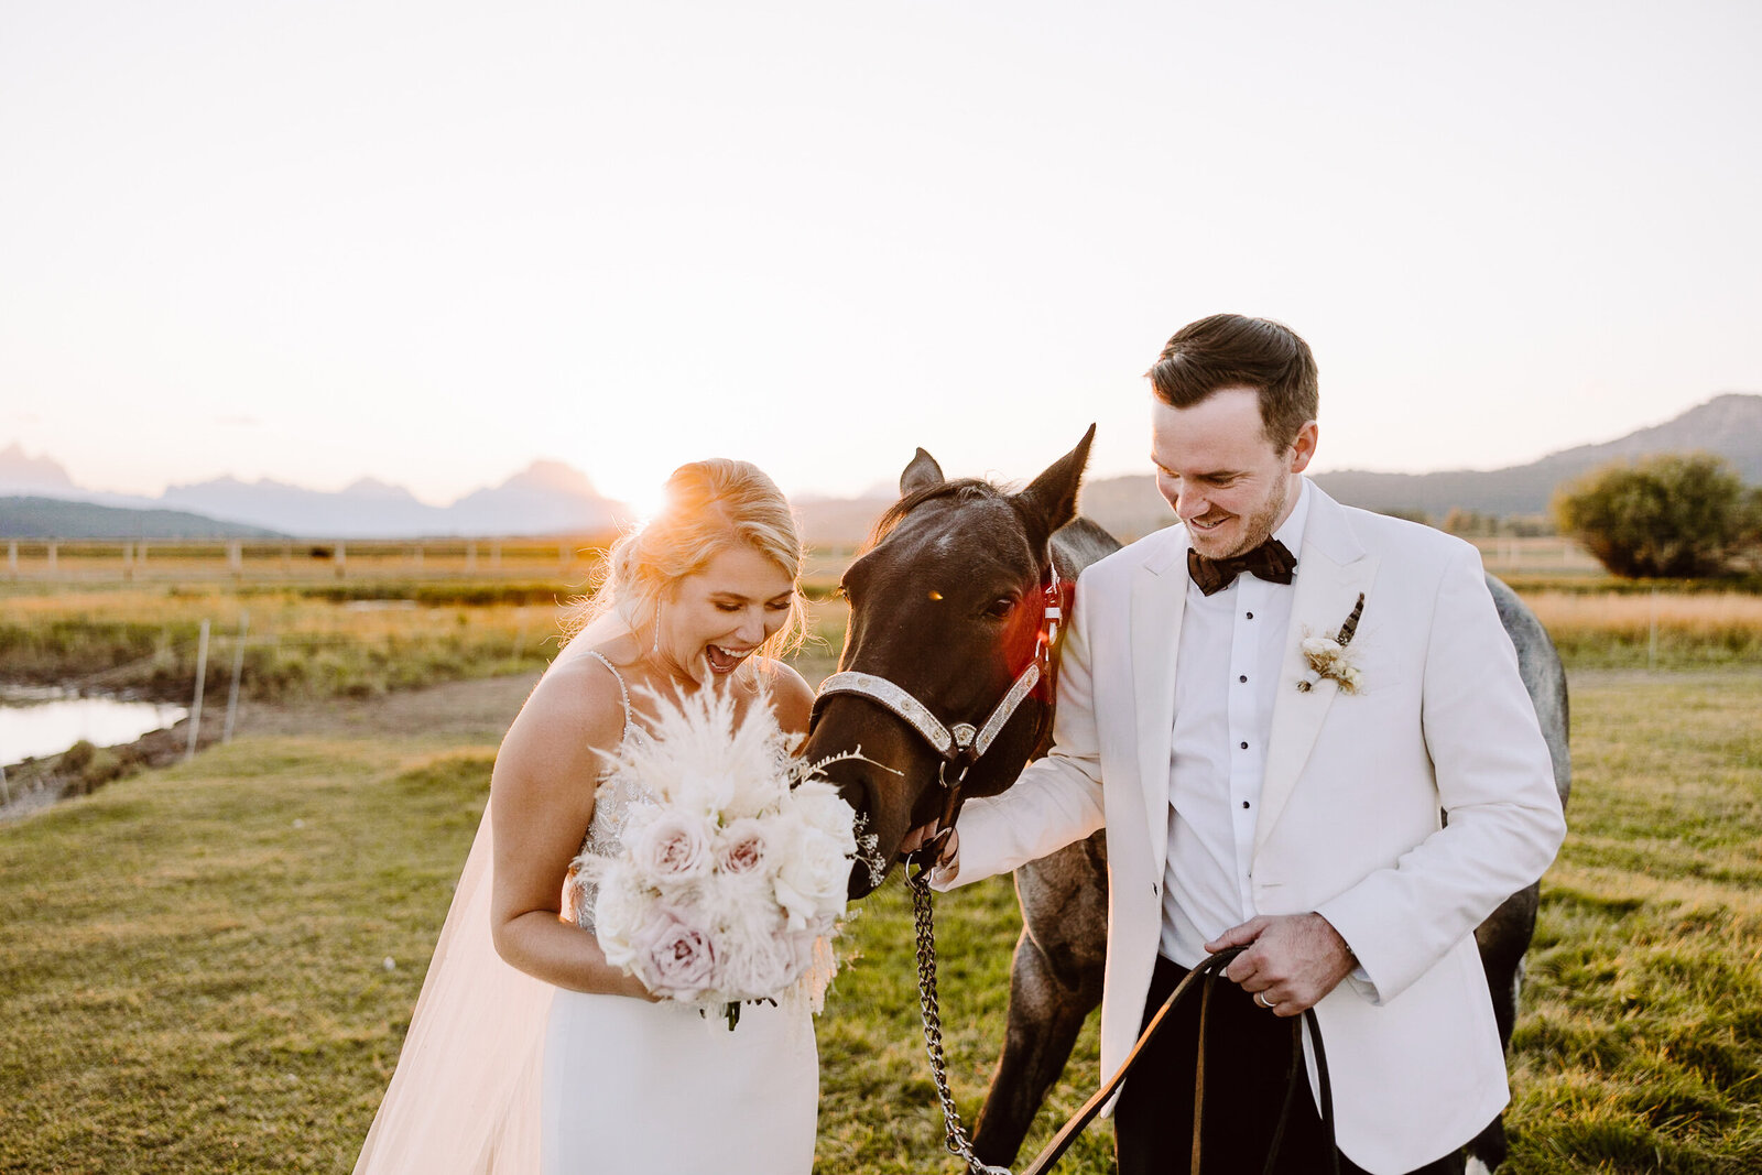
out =
<svg viewBox="0 0 1762 1175"><path fill-rule="evenodd" d="M1131 581L1131 685L1138 719L1138 786L1151 860L1168 854L1168 756L1175 733L1175 654L1188 604L1186 532L1152 553ZM1161 876L1161 868L1158 868Z"/></svg>

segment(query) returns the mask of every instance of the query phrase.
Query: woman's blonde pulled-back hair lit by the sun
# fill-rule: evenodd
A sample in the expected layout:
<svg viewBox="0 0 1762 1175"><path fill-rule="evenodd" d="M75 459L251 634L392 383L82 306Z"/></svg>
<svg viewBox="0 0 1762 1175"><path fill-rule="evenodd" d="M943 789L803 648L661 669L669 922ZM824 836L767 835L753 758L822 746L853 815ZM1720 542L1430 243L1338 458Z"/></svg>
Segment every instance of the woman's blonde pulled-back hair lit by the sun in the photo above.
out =
<svg viewBox="0 0 1762 1175"><path fill-rule="evenodd" d="M617 615L633 632L655 622L661 601L685 576L703 571L719 551L745 543L802 581L802 539L795 514L770 477L751 462L724 456L680 465L666 481L666 506L606 551L594 576L594 594L564 620L573 638L594 620ZM802 595L789 601L789 618L759 647L786 657L802 647L807 617Z"/></svg>

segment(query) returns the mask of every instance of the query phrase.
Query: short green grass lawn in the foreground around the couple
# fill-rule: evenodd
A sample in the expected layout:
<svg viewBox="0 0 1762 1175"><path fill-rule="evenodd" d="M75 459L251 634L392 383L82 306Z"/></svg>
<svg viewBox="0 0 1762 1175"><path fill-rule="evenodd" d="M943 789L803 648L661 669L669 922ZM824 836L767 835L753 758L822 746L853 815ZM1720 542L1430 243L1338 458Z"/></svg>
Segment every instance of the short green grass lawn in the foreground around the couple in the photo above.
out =
<svg viewBox="0 0 1762 1175"><path fill-rule="evenodd" d="M1512 1171L1762 1170L1758 712L1755 673L1573 676L1573 831L1529 957ZM245 738L0 828L0 1171L347 1171L490 756ZM939 913L971 1120L1018 923L1003 881ZM819 1024L819 1170L953 1171L899 886L853 946ZM1091 1025L1029 1149L1096 1078ZM1110 1170L1091 1133L1061 1170Z"/></svg>

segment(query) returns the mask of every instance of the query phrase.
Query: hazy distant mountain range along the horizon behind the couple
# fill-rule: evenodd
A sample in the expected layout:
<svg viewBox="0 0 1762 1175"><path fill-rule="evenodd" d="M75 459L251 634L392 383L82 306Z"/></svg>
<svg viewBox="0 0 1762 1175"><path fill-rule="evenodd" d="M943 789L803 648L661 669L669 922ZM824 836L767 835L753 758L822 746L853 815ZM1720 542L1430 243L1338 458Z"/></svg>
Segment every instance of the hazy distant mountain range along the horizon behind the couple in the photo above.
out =
<svg viewBox="0 0 1762 1175"><path fill-rule="evenodd" d="M1612 460L1681 451L1718 454L1744 481L1762 483L1762 395L1720 395L1663 425L1551 453L1528 465L1433 474L1344 469L1318 474L1316 483L1350 506L1434 520L1454 507L1499 516L1544 514L1554 488L1570 477ZM1033 472L1022 470L1022 476ZM0 537L39 537L44 527L69 527L60 537L606 534L631 520L627 506L601 497L587 474L562 462L534 462L502 484L451 506L428 506L409 490L372 477L337 491L218 477L144 499L85 490L53 458L30 456L12 444L0 449L0 495L14 495L0 497ZM116 513L55 511L42 499L106 506ZM795 506L807 539L848 544L860 541L892 500L892 493L876 490L853 499L798 499ZM1089 481L1082 511L1128 539L1173 521L1154 479L1144 474Z"/></svg>

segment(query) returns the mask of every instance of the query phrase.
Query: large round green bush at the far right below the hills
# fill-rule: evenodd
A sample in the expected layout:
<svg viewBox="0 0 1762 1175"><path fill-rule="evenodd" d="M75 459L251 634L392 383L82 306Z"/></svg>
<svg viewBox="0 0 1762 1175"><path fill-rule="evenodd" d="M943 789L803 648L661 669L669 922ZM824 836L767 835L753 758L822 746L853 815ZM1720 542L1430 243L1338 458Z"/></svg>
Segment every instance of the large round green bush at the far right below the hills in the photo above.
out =
<svg viewBox="0 0 1762 1175"><path fill-rule="evenodd" d="M1716 576L1743 548L1751 493L1720 458L1665 453L1595 469L1554 493L1554 520L1609 571Z"/></svg>

